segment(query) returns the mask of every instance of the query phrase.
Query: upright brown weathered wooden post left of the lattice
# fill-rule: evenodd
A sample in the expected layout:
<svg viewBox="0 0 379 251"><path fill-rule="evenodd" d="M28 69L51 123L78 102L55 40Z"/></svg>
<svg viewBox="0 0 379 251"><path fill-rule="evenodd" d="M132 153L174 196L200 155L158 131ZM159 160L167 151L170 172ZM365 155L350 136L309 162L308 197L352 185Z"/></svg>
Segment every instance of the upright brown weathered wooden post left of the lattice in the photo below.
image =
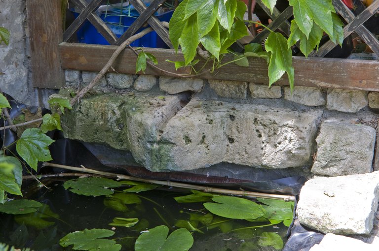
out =
<svg viewBox="0 0 379 251"><path fill-rule="evenodd" d="M27 0L33 86L59 89L65 84L58 44L62 42L62 0Z"/></svg>

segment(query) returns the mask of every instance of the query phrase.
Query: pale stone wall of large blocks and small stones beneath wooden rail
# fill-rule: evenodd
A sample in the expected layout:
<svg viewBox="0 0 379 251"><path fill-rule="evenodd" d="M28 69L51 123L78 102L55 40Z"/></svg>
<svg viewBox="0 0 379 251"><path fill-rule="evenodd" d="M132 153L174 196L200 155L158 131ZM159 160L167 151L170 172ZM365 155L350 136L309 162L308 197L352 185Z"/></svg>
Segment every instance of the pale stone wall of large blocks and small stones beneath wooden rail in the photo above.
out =
<svg viewBox="0 0 379 251"><path fill-rule="evenodd" d="M95 75L67 70L60 95ZM109 73L63 124L67 137L128 150L152 171L227 162L362 174L375 162L376 95Z"/></svg>

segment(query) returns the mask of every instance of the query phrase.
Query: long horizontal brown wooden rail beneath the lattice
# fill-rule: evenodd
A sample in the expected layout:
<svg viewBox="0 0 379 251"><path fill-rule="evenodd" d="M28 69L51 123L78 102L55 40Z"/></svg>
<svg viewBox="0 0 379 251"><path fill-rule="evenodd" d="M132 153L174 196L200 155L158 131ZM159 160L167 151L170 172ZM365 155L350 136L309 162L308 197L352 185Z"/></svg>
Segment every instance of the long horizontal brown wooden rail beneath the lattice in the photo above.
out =
<svg viewBox="0 0 379 251"><path fill-rule="evenodd" d="M65 69L100 71L115 48L115 46L61 43L59 49L62 67ZM172 63L165 62L166 59L172 61L183 60L182 55L175 56L174 50L146 48L145 51L152 53L158 59L160 68L179 74L188 73L189 69L175 71ZM125 50L114 63L114 70L119 73L135 74L136 58L136 55L131 50ZM225 60L231 61L232 57L226 56ZM194 77L267 84L267 64L265 60L249 58L249 63L252 65L251 67L242 67L230 63L226 67L216 69L213 73L206 72ZM295 67L295 86L379 92L378 61L293 57L293 65ZM149 66L146 69L146 74L168 75ZM287 76L285 75L277 84L288 85Z"/></svg>

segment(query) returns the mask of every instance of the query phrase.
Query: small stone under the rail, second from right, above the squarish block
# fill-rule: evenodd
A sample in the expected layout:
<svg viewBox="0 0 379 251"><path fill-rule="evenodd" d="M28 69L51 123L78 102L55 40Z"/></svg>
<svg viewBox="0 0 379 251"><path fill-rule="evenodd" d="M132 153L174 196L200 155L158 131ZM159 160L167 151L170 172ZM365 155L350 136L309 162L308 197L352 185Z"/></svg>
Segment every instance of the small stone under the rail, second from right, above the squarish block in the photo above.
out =
<svg viewBox="0 0 379 251"><path fill-rule="evenodd" d="M340 112L358 112L369 103L367 92L328 89L326 108Z"/></svg>

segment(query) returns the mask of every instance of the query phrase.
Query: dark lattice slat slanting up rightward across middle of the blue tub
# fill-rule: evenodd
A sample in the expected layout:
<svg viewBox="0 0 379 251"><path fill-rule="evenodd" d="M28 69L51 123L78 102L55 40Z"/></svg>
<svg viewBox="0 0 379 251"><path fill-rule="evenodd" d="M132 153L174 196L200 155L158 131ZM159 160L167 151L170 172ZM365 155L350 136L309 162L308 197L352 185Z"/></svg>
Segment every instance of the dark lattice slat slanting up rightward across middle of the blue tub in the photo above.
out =
<svg viewBox="0 0 379 251"><path fill-rule="evenodd" d="M130 36L134 35L145 23L146 21L154 14L157 9L165 2L166 0L155 0L153 1L146 10L141 13L141 15L129 26L128 30L118 38L116 45L122 44Z"/></svg>

